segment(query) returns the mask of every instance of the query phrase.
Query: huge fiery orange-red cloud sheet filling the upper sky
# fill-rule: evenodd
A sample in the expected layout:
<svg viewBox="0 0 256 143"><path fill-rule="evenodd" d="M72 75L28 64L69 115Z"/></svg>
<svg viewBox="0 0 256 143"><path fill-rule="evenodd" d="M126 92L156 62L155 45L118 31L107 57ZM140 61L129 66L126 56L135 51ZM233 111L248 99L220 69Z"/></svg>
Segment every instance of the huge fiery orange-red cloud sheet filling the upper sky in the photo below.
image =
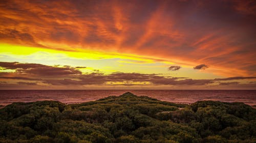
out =
<svg viewBox="0 0 256 143"><path fill-rule="evenodd" d="M230 76L256 75L252 1L14 0L1 2L0 21L1 43L200 61L240 71Z"/></svg>

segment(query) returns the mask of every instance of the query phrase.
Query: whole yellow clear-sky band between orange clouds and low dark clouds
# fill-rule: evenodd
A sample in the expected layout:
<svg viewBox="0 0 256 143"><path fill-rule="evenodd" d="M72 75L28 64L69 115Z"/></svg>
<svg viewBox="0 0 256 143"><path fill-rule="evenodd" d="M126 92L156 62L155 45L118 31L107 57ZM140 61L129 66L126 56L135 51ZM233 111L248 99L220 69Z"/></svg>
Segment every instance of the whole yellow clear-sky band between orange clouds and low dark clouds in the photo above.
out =
<svg viewBox="0 0 256 143"><path fill-rule="evenodd" d="M103 52L94 49L74 48L74 50L71 51L0 43L0 54L2 54L0 59L5 58L5 56L10 57L9 60L2 60L5 62L24 61L25 63L34 63L36 61L38 64L51 66L54 64L63 66L66 63L69 63L67 65L73 67L86 66L87 68L78 69L82 73L97 72L95 70L99 70L99 72L104 74L111 74L112 72L136 72L143 74L172 74L171 76L190 77L194 79L220 78L220 76L212 74L214 72L207 73L207 71L205 71L204 73L195 71L191 66L175 64L167 60L157 59L150 56L110 51ZM62 59L65 60L61 61ZM179 72L167 70L170 65L174 64L182 67ZM200 74L198 74L199 72Z"/></svg>

